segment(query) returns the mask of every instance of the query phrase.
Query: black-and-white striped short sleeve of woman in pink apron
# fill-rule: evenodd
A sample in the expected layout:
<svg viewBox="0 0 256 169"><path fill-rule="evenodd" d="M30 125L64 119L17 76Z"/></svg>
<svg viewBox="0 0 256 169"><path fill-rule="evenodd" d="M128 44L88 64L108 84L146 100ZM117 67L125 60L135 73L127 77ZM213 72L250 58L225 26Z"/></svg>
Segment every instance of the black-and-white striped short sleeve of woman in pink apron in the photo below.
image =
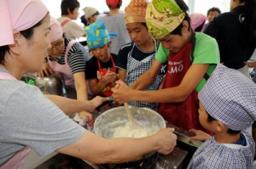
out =
<svg viewBox="0 0 256 169"><path fill-rule="evenodd" d="M75 42L68 51L67 64L71 68L73 74L85 71L86 58L79 48L79 44Z"/></svg>

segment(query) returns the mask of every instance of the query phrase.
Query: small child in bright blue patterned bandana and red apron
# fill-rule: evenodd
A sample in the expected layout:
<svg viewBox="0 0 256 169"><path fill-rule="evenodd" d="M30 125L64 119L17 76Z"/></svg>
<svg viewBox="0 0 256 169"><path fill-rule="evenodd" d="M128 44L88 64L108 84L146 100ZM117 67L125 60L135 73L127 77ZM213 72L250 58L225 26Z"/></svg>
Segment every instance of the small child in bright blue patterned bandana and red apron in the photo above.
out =
<svg viewBox="0 0 256 169"><path fill-rule="evenodd" d="M111 45L110 36L117 37L114 33L108 33L105 25L100 20L85 27L87 44L92 57L85 67L86 79L89 82L90 91L94 95L111 96L113 82L118 79L115 67L116 54L110 54L108 48Z"/></svg>

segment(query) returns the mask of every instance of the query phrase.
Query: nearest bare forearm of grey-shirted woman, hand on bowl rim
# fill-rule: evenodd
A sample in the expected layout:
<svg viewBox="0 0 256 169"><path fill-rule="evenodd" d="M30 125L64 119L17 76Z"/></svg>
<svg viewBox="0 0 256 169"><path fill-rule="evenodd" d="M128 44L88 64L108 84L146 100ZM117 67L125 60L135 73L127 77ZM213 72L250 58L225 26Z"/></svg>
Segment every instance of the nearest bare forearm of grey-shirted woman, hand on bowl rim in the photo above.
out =
<svg viewBox="0 0 256 169"><path fill-rule="evenodd" d="M176 146L173 128L165 128L147 138L101 138L86 131L82 138L56 151L93 163L135 161L142 155L158 151L169 154Z"/></svg>

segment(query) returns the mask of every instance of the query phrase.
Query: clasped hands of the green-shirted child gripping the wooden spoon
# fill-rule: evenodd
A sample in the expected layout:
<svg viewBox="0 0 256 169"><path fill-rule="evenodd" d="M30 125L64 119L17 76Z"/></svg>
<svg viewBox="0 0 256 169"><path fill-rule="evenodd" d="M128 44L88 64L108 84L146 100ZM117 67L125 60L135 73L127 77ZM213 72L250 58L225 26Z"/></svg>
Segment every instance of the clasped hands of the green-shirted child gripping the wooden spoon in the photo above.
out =
<svg viewBox="0 0 256 169"><path fill-rule="evenodd" d="M114 101L119 104L123 104L125 102L130 101L131 91L132 89L128 87L125 82L119 80L115 82L115 86L111 89L113 92L112 96Z"/></svg>

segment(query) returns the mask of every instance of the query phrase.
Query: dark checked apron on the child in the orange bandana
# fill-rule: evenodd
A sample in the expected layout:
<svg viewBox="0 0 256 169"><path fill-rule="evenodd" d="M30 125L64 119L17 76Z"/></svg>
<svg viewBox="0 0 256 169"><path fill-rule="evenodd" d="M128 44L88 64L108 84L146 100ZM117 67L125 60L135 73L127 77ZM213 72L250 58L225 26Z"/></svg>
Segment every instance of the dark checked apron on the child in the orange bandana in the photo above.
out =
<svg viewBox="0 0 256 169"><path fill-rule="evenodd" d="M154 62L154 55L157 52L157 44L154 40L154 50L155 53L148 55L147 58L144 58L143 60L139 61L137 59L134 59L132 57L132 52L134 47L136 46L135 43L133 43L131 51L128 53L127 57L127 70L125 75L125 82L126 84L131 87L131 85L137 81L137 79L143 75L143 73L153 65ZM162 81L163 76L156 76L156 79L153 83L151 83L150 86L144 88L143 90L157 90L160 86L160 82ZM137 107L147 107L153 110L156 110L157 103L149 103L149 102L129 102L130 105L137 106Z"/></svg>

